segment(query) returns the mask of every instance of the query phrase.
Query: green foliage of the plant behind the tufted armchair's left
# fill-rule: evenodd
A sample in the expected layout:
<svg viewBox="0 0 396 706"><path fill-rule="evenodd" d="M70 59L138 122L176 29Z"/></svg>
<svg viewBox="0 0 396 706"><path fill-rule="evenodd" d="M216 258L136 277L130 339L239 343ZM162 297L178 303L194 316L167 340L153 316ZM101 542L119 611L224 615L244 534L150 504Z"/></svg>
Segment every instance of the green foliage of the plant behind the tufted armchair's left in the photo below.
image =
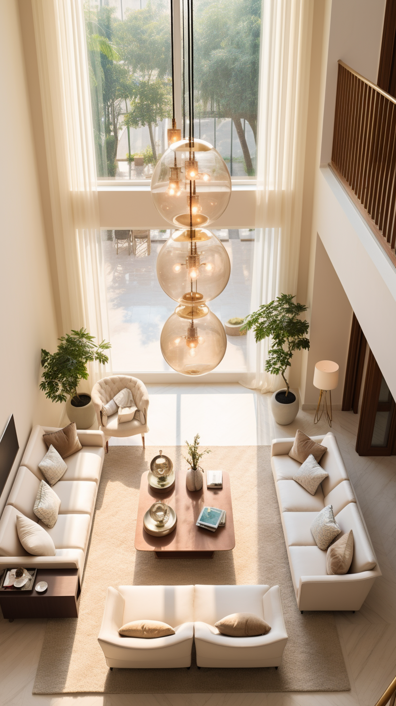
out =
<svg viewBox="0 0 396 706"><path fill-rule="evenodd" d="M107 363L109 358L105 350L111 348L111 345L106 341L96 344L94 336L85 328L72 330L58 340L60 343L55 353L41 349L43 373L40 390L52 402L66 402L66 395L70 395L71 399L79 399L78 383L88 379L86 364L94 360Z"/></svg>

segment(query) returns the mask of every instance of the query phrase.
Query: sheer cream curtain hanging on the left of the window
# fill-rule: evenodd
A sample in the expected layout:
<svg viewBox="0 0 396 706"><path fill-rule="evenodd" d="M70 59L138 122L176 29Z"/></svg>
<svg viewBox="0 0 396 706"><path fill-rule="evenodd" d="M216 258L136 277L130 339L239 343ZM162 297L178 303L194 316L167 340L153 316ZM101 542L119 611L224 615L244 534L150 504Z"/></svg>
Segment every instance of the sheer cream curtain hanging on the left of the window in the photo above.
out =
<svg viewBox="0 0 396 706"><path fill-rule="evenodd" d="M83 2L32 4L63 333L83 326L100 342L108 325ZM103 366L89 373L93 385Z"/></svg>

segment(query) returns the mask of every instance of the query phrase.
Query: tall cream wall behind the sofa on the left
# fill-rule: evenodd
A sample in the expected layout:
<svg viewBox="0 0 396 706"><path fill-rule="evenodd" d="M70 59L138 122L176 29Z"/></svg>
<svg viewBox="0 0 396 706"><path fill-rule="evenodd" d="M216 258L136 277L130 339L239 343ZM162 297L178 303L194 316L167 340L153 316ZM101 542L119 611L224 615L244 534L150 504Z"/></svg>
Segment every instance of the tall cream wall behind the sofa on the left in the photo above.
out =
<svg viewBox="0 0 396 706"><path fill-rule="evenodd" d="M16 0L0 3L0 26L6 56L0 63L0 93L8 106L0 111L0 433L13 413L20 445L0 496L1 512L33 424L58 424L62 407L38 388L40 350L54 350L57 326Z"/></svg>

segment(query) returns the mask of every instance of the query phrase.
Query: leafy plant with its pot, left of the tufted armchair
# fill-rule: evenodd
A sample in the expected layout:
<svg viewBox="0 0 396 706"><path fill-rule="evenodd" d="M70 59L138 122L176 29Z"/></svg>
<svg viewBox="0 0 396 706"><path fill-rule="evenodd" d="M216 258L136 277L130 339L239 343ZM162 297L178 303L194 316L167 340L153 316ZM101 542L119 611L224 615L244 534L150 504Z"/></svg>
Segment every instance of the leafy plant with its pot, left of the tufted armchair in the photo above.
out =
<svg viewBox="0 0 396 706"><path fill-rule="evenodd" d="M70 421L76 422L77 429L88 429L95 420L95 408L91 395L78 394L77 388L81 380L88 379L88 362L107 363L105 350L111 347L110 343L96 344L85 328L72 330L58 340L60 343L55 353L41 349L40 390L52 402L66 402Z"/></svg>

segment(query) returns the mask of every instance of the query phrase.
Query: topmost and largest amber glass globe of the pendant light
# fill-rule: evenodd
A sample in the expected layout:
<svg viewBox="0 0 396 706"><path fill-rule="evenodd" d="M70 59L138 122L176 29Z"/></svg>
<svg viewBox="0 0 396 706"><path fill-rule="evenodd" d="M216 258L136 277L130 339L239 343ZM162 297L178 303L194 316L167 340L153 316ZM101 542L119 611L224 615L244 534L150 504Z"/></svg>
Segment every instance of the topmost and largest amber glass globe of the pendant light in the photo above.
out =
<svg viewBox="0 0 396 706"><path fill-rule="evenodd" d="M173 143L154 169L151 196L159 213L172 225L209 225L221 216L230 200L231 177L226 162L204 140Z"/></svg>

